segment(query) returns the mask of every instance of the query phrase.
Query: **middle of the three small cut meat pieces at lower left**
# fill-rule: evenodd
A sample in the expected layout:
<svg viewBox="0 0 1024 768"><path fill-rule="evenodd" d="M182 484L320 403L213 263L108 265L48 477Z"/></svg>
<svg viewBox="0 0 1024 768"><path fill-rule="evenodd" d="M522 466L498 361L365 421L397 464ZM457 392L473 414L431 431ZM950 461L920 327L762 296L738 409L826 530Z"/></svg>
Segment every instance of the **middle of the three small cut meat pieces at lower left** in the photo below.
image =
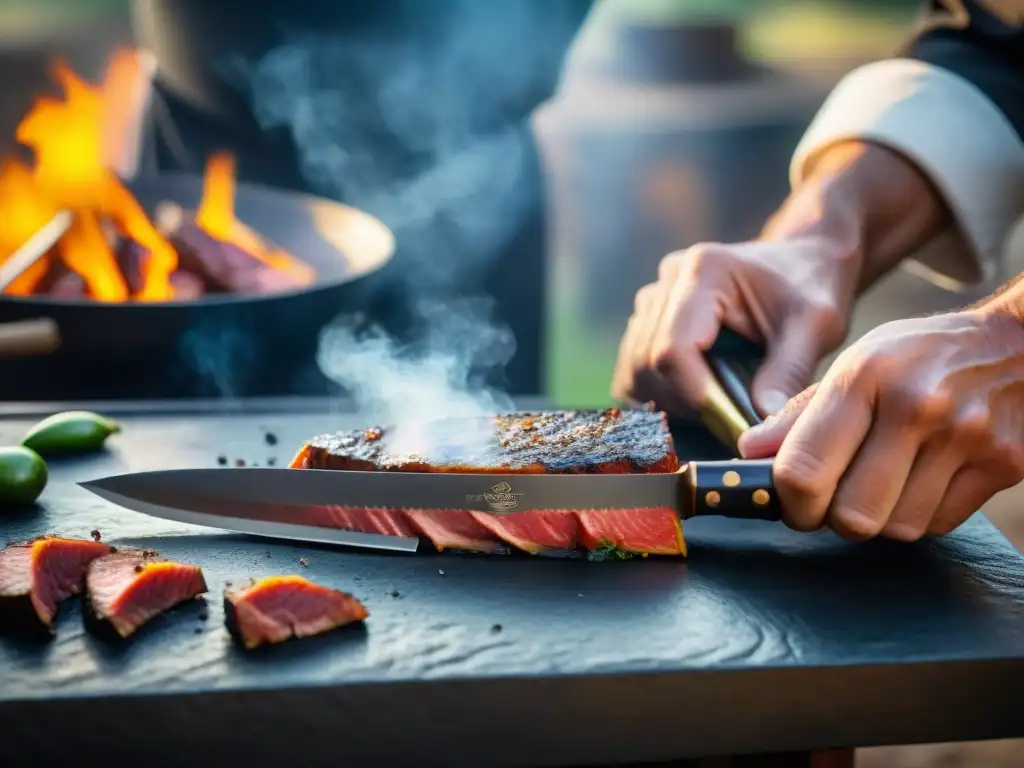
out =
<svg viewBox="0 0 1024 768"><path fill-rule="evenodd" d="M122 638L207 591L198 565L170 562L148 550L119 550L89 564L88 615Z"/></svg>

